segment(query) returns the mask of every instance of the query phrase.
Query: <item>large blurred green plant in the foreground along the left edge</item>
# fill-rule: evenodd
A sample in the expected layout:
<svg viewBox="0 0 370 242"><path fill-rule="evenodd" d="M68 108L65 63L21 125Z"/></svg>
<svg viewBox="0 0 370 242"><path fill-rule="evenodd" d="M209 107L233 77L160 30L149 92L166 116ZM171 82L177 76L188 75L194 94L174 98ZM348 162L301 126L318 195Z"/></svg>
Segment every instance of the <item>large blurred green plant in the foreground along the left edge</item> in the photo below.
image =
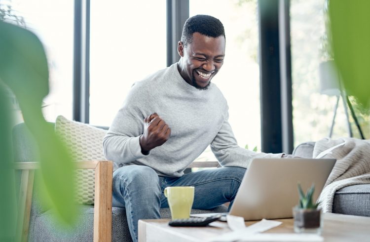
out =
<svg viewBox="0 0 370 242"><path fill-rule="evenodd" d="M49 72L40 40L32 32L0 21L0 241L15 231L16 207L11 145L12 113L8 86L18 100L23 119L38 146L42 193L62 224L75 222L74 164L71 156L44 120L42 99L49 92ZM12 240L10 240L12 241Z"/></svg>

